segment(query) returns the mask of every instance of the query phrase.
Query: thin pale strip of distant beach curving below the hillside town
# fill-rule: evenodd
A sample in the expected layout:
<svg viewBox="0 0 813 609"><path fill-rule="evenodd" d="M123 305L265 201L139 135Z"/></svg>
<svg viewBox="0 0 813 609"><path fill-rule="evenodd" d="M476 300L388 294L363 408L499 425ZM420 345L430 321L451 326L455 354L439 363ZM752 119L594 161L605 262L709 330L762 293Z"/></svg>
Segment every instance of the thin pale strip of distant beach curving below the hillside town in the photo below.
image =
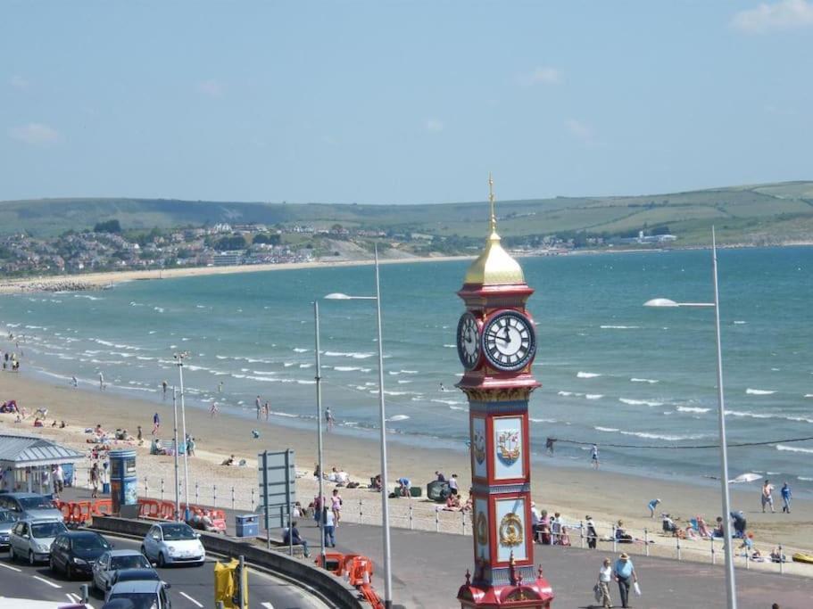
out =
<svg viewBox="0 0 813 609"><path fill-rule="evenodd" d="M397 258L380 259L379 264L405 264L415 262L444 262L449 260L468 260L471 256L436 256L431 258ZM145 281L150 279L173 279L178 277L199 277L208 275L231 275L236 273L259 273L261 271L285 271L298 268L323 267L361 267L375 264L374 260L319 260L315 262L286 262L282 264L246 264L228 267L179 267L150 269L138 271L111 271L106 273L87 273L81 275L53 275L7 279L0 283L0 293L40 292L54 289L104 288L108 285L128 281ZM61 286L65 286L64 288Z"/></svg>

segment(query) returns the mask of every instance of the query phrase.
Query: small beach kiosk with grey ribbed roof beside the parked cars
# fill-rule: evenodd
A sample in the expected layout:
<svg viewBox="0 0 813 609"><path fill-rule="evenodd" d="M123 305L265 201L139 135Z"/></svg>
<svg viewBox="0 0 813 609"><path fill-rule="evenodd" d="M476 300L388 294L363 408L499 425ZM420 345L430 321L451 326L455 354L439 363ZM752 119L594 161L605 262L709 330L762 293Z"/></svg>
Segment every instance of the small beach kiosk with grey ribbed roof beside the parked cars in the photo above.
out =
<svg viewBox="0 0 813 609"><path fill-rule="evenodd" d="M51 440L0 433L0 490L50 495L54 491L51 479L54 465L72 470L72 465L83 458L76 450Z"/></svg>

